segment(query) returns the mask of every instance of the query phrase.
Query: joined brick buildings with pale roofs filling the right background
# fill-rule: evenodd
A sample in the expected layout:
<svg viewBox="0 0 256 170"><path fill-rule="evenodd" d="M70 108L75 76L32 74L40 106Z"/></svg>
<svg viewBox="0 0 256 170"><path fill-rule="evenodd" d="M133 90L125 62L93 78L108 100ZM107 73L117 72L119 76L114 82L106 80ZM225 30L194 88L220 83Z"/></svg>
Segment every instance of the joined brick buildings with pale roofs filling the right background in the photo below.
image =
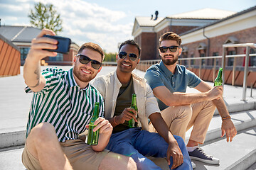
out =
<svg viewBox="0 0 256 170"><path fill-rule="evenodd" d="M132 35L142 47L141 60L160 59L158 41L169 31L181 35L182 58L219 56L223 53L223 44L256 42L255 13L256 6L239 13L204 8L165 18L136 17ZM255 53L255 49L250 53ZM228 48L226 54L245 54L245 48ZM243 60L238 58L237 64L242 66ZM228 58L227 66L233 63L234 58ZM199 61L183 60L181 64L198 66ZM201 64L211 66L213 60L202 60ZM221 65L221 61L217 60L216 64ZM256 57L250 57L250 66L256 66Z"/></svg>

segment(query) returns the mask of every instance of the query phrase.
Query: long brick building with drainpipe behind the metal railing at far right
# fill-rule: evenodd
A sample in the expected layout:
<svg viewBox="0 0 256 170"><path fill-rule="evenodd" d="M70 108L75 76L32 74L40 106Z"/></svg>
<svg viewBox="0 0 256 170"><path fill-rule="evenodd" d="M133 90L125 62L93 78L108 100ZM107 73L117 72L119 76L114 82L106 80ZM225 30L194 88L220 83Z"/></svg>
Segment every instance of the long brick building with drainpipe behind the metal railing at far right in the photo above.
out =
<svg viewBox="0 0 256 170"><path fill-rule="evenodd" d="M256 6L180 35L183 58L222 55L223 44L256 43ZM255 48L251 48L250 53L256 53ZM226 54L245 54L245 47L227 48ZM234 60L233 57L228 58L226 66L233 66ZM236 60L237 66L244 64L244 57L238 57ZM191 60L192 65L198 65L198 62ZM183 61L182 64L188 63ZM202 65L212 66L213 59L203 60ZM221 65L221 59L217 60L217 65ZM250 57L249 65L256 67L256 56Z"/></svg>

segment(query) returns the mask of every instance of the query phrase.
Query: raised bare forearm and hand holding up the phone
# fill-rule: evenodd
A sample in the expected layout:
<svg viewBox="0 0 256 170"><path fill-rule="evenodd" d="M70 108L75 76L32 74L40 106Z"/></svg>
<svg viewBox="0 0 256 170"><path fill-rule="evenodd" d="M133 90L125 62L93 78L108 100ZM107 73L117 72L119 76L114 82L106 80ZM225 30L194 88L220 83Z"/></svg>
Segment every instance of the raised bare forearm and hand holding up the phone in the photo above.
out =
<svg viewBox="0 0 256 170"><path fill-rule="evenodd" d="M41 75L41 60L47 56L56 56L57 52L49 52L43 49L56 49L57 41L45 38L43 35L55 35L53 30L43 29L39 35L32 40L31 50L26 57L23 67L23 78L26 85L32 91L41 91L46 85L46 79Z"/></svg>

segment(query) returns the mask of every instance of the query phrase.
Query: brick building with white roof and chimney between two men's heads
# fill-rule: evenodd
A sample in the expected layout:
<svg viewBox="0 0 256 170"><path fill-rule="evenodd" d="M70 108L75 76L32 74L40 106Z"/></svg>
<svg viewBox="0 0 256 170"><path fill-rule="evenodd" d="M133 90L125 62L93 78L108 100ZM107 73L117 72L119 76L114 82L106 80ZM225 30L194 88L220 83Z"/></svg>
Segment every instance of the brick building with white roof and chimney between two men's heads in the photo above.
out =
<svg viewBox="0 0 256 170"><path fill-rule="evenodd" d="M212 8L180 13L165 18L156 16L136 17L132 35L142 47L141 60L159 59L159 38L163 33L174 31L179 35L194 28L201 28L222 18L233 15L234 12Z"/></svg>

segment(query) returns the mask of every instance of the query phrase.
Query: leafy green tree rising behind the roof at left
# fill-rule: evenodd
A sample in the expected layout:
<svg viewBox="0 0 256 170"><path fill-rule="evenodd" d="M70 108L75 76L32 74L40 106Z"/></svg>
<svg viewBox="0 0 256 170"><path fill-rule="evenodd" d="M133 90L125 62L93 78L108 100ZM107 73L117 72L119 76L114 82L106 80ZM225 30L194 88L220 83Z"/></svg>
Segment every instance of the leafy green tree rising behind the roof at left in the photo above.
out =
<svg viewBox="0 0 256 170"><path fill-rule="evenodd" d="M36 28L48 28L56 34L63 29L60 14L57 13L53 4L44 5L41 2L35 4L35 11L31 9L28 17L31 18L30 22Z"/></svg>

